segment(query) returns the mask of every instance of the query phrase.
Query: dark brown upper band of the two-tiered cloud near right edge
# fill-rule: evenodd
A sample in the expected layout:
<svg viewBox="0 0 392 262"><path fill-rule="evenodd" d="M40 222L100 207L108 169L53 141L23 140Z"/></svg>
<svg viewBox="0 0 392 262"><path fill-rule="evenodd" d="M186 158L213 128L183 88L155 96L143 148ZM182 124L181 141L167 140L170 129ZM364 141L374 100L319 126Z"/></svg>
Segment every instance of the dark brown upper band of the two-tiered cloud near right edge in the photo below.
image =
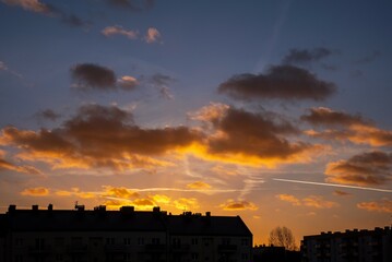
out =
<svg viewBox="0 0 392 262"><path fill-rule="evenodd" d="M334 111L326 107L317 107L308 109L308 115L302 115L301 120L316 126L351 126L368 124L360 115L349 115L344 111Z"/></svg>

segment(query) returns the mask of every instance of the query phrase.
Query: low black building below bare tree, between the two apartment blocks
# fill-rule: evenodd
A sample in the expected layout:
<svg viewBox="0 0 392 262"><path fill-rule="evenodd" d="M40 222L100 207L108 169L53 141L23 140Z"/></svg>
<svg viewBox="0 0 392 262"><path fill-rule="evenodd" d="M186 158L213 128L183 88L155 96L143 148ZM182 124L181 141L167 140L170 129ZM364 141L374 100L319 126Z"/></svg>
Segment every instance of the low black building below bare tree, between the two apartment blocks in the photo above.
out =
<svg viewBox="0 0 392 262"><path fill-rule="evenodd" d="M253 262L300 262L300 252L284 247L257 246L253 248Z"/></svg>

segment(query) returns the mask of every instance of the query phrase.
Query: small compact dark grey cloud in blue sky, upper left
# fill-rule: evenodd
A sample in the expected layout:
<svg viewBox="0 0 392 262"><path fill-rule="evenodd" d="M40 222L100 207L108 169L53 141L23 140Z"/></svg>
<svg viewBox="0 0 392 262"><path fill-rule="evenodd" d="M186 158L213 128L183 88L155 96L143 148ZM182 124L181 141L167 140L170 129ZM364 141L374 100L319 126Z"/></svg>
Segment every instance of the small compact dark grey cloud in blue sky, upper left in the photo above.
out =
<svg viewBox="0 0 392 262"><path fill-rule="evenodd" d="M116 74L111 69L94 63L79 63L71 68L72 78L82 90L115 90Z"/></svg>

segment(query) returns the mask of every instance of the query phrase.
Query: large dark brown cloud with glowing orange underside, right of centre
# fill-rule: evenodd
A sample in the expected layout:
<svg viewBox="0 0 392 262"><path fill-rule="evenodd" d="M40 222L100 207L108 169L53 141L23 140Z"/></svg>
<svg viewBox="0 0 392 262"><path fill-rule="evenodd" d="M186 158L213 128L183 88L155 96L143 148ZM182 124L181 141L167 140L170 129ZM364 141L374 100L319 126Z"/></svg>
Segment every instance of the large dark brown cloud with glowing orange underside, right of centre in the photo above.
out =
<svg viewBox="0 0 392 262"><path fill-rule="evenodd" d="M253 114L229 108L221 118L214 119L217 133L209 139L213 154L243 154L261 158L285 159L310 147L306 143L293 143L286 138L298 134L299 130L288 121L266 114Z"/></svg>

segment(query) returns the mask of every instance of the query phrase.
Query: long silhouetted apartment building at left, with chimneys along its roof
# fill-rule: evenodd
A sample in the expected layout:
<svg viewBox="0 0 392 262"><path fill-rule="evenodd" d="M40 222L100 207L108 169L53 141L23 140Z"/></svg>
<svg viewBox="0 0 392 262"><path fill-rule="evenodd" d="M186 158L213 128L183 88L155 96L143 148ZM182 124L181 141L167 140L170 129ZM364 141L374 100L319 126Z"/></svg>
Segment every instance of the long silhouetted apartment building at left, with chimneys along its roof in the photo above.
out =
<svg viewBox="0 0 392 262"><path fill-rule="evenodd" d="M185 212L17 210L0 215L0 261L251 261L252 234L239 216Z"/></svg>

